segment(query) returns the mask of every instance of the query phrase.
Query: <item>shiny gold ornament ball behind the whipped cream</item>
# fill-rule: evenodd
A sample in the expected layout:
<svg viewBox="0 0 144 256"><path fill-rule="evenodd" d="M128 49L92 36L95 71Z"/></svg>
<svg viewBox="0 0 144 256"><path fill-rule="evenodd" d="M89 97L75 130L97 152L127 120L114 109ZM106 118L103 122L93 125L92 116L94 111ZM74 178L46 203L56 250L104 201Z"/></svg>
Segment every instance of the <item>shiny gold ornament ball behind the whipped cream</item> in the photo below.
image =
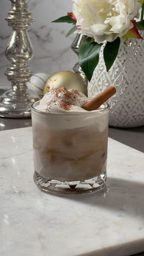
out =
<svg viewBox="0 0 144 256"><path fill-rule="evenodd" d="M61 87L65 87L67 90L79 90L79 92L82 92L87 96L87 86L84 81L79 75L71 71L59 71L52 76L49 76L45 83L43 94L45 95L50 90Z"/></svg>

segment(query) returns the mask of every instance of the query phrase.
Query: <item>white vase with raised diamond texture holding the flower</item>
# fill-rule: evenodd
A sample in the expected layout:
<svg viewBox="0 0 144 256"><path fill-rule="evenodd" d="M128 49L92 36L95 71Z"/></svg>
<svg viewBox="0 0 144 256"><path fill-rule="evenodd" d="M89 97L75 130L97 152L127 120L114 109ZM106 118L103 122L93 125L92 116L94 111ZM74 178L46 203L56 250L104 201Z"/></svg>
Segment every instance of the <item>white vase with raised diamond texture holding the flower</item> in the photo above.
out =
<svg viewBox="0 0 144 256"><path fill-rule="evenodd" d="M144 125L144 40L121 39L120 50L109 72L99 56L93 78L88 84L88 97L94 97L106 87L117 87L110 100L110 126L137 127Z"/></svg>

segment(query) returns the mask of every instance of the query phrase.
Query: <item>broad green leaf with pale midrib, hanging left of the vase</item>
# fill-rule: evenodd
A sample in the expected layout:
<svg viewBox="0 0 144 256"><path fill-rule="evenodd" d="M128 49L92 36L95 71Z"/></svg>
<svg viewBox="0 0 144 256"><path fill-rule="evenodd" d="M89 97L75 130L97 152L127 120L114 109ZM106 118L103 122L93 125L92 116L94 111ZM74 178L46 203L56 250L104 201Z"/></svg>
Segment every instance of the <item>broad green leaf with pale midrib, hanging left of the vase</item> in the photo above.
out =
<svg viewBox="0 0 144 256"><path fill-rule="evenodd" d="M93 71L99 62L99 51L102 44L92 42L92 38L87 40L79 48L79 65L87 76L88 81L91 80Z"/></svg>

